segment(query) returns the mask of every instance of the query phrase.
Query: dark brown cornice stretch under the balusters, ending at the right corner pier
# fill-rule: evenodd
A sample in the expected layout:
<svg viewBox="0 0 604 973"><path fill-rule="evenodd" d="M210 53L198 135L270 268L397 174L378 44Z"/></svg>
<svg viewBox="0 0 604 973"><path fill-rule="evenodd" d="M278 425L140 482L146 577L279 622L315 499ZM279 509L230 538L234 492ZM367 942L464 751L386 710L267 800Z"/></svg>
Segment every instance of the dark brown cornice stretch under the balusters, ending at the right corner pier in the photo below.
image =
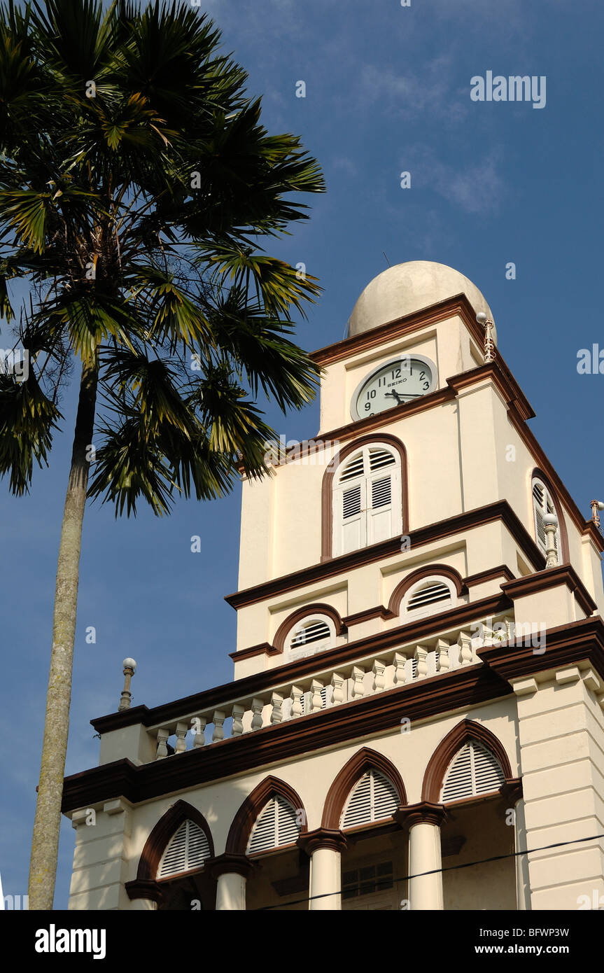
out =
<svg viewBox="0 0 604 973"><path fill-rule="evenodd" d="M602 626L601 621L599 624ZM587 646L588 642L584 655ZM604 655L602 662L604 671ZM130 804L150 801L304 753L400 729L402 712L413 722L511 693L509 683L488 666L454 669L164 760L135 766L123 759L90 768L65 777L62 810L68 813L90 808L122 796Z"/></svg>

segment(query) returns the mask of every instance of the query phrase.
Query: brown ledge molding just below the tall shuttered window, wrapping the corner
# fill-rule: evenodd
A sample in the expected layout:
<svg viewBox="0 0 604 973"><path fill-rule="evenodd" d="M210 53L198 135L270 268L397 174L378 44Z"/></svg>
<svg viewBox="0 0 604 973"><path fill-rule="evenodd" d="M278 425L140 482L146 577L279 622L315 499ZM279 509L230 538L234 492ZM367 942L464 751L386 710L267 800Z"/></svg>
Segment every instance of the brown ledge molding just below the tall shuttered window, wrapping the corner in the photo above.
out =
<svg viewBox="0 0 604 973"><path fill-rule="evenodd" d="M507 500L496 500L495 503L486 504L484 507L477 507L474 510L465 511L463 514L456 514L446 521L428 523L424 527L417 527L415 530L408 531L410 547L413 551L416 551L424 544L443 540L445 537L451 537L454 534L494 521L502 521L505 524L522 554L536 571L540 571L546 566L546 559ZM294 571L292 574L273 578L261 585L255 585L253 588L233 592L232 595L225 597L225 601L232 608L243 608L246 605L265 601L266 598L274 595L283 595L285 592L302 588L302 586L312 584L314 581L324 581L326 578L338 574L346 574L356 567L371 564L373 561L400 553L401 538L393 537L390 540L381 541L379 544L373 544L371 547L361 548L360 551L352 551L350 554L341 555L338 558L312 564L310 567L302 568L301 571Z"/></svg>

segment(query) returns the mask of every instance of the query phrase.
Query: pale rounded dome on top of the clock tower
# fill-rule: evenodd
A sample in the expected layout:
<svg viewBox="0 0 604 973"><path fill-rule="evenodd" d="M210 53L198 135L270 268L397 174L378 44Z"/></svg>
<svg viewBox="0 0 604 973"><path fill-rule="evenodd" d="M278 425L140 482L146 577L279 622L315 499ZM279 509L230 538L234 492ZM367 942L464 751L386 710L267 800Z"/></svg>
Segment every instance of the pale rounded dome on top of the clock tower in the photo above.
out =
<svg viewBox="0 0 604 973"><path fill-rule="evenodd" d="M465 294L477 313L484 311L493 321L480 290L459 270L429 260L411 260L389 267L373 277L355 304L348 321L348 338L458 294ZM494 327L493 338L497 341Z"/></svg>

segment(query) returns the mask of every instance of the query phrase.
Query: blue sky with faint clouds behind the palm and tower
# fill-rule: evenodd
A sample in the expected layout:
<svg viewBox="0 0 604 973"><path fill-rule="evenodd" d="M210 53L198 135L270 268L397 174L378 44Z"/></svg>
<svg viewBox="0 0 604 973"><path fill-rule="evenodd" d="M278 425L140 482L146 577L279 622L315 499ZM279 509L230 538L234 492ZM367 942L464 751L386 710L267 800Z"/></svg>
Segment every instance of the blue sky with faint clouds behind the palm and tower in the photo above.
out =
<svg viewBox="0 0 604 973"><path fill-rule="evenodd" d="M184 2L184 0L183 0ZM537 413L531 428L575 500L604 494L604 376L577 353L601 342L604 13L597 0L208 0L224 46L263 94L265 125L302 135L328 192L272 246L302 261L324 294L299 328L306 348L340 340L354 303L390 264L433 260L470 277L499 347ZM476 75L547 78L547 103L475 102ZM305 98L296 97L304 81ZM410 189L400 173L411 174ZM516 279L506 279L514 262ZM0 346L9 329L3 324ZM261 406L263 403L260 403ZM53 588L75 398L29 497L0 482L0 683L5 894L24 894L44 725ZM318 402L269 419L312 437ZM97 762L89 719L117 708L121 664L138 662L134 703L227 682L235 613L239 489L170 518L115 521L89 506L81 562L67 773ZM191 553L191 537L202 553ZM96 644L86 629L96 629ZM55 906L67 903L73 831L64 822Z"/></svg>

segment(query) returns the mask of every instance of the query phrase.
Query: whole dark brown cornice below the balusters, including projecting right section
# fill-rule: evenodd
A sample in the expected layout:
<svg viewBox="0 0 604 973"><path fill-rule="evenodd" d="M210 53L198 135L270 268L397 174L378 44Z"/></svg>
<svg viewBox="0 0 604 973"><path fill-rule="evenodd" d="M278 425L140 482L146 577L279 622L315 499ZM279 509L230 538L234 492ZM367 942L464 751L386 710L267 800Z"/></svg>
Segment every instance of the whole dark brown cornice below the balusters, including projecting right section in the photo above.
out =
<svg viewBox="0 0 604 973"><path fill-rule="evenodd" d="M131 804L241 775L267 764L373 737L411 722L509 696L511 680L586 661L604 678L604 623L599 617L547 632L547 650L503 643L478 650L483 665L468 666L408 683L373 696L221 740L164 760L134 766L104 764L65 778L65 813L124 797Z"/></svg>

